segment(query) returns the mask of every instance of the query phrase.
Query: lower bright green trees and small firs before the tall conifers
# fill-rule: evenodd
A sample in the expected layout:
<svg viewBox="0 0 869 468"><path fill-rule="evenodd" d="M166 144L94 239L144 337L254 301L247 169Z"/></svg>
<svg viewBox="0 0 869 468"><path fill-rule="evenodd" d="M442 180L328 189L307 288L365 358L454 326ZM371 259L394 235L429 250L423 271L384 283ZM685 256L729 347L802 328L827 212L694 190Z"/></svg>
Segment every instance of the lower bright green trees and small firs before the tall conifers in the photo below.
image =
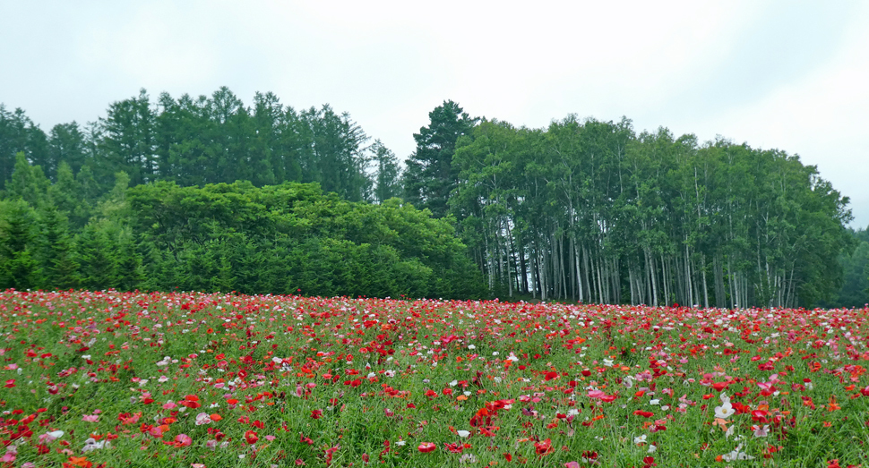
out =
<svg viewBox="0 0 869 468"><path fill-rule="evenodd" d="M342 200L317 183L249 181L112 191L81 222L73 183L49 184L20 153L0 200L0 288L479 297L447 221L393 198ZM24 190L22 190L22 188Z"/></svg>

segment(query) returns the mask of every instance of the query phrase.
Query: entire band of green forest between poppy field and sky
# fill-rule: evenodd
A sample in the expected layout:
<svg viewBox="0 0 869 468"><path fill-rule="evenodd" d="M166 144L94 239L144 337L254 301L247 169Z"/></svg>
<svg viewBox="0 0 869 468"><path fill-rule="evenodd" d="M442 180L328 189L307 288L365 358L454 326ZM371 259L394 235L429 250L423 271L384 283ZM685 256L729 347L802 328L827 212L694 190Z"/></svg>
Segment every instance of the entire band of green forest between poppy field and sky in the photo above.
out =
<svg viewBox="0 0 869 468"><path fill-rule="evenodd" d="M142 89L49 132L0 104L0 288L869 302L869 234L796 155L627 118L428 116L401 164L271 93Z"/></svg>

